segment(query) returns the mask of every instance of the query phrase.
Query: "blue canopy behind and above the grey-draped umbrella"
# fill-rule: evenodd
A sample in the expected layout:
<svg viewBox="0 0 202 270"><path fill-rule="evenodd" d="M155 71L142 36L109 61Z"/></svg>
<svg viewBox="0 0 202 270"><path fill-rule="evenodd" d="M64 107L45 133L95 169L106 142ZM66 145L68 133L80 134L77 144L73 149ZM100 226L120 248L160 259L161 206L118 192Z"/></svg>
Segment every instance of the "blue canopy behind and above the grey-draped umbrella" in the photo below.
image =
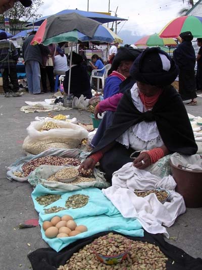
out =
<svg viewBox="0 0 202 270"><path fill-rule="evenodd" d="M106 14L101 14L101 13L96 13L96 12L88 12L88 11L82 11L82 10L62 10L54 15L61 15L61 14L69 14L69 13L77 13L81 16L84 16L86 18L93 19L97 22L100 23L107 23L107 22L114 22L114 21L127 21L127 19L119 18L119 17L114 17ZM51 17L52 15L41 17L37 20L34 21L35 26L41 25L41 23L47 19L48 17ZM32 26L33 22L30 22L26 26Z"/></svg>

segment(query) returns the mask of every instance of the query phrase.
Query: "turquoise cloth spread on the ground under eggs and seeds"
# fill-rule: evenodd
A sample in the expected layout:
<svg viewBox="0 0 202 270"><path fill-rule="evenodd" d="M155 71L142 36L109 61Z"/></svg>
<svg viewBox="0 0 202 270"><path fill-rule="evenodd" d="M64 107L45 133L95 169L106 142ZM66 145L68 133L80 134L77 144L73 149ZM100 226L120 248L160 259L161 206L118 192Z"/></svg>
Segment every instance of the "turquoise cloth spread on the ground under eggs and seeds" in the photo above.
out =
<svg viewBox="0 0 202 270"><path fill-rule="evenodd" d="M46 207L39 205L35 200L36 197L46 194L60 194L62 198ZM76 194L88 195L88 204L82 208L66 209L58 213L44 214L44 208L52 206L65 207L65 202L68 197ZM91 235L104 232L106 230L115 230L124 235L143 237L143 229L137 219L124 218L121 213L114 207L114 205L104 196L102 191L98 188L83 188L72 192L61 192L45 188L38 184L32 192L32 200L34 207L39 213L39 224L41 226L42 239L57 252L68 246L70 243L78 239L83 239ZM45 236L42 229L42 223L45 220L51 220L52 217L58 215L71 215L77 225L85 225L88 231L74 237L67 238L53 238L49 239Z"/></svg>

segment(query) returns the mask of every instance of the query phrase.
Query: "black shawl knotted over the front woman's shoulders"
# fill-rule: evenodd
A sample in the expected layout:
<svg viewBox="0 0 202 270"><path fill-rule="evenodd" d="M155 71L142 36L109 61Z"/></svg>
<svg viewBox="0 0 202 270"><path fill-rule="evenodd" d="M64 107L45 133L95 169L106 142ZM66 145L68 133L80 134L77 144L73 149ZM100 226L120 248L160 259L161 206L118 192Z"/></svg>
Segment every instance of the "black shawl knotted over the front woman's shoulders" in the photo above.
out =
<svg viewBox="0 0 202 270"><path fill-rule="evenodd" d="M153 109L143 113L134 106L130 90L126 90L117 107L112 126L106 130L91 153L104 148L129 127L142 121L156 121L162 140L171 153L196 153L197 145L185 106L172 86L166 86Z"/></svg>

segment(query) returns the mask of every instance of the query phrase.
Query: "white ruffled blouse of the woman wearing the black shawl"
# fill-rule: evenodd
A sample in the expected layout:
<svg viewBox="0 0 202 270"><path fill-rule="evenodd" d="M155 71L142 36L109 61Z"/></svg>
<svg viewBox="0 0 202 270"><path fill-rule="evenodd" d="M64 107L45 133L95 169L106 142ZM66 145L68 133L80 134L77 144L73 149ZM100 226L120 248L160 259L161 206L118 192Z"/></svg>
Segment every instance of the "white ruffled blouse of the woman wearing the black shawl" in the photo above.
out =
<svg viewBox="0 0 202 270"><path fill-rule="evenodd" d="M130 92L134 106L141 112L146 111L139 98L137 84L133 85ZM125 145L126 148L130 146L135 150L150 150L155 147L161 147L164 144L156 121L142 121L126 130L116 141Z"/></svg>

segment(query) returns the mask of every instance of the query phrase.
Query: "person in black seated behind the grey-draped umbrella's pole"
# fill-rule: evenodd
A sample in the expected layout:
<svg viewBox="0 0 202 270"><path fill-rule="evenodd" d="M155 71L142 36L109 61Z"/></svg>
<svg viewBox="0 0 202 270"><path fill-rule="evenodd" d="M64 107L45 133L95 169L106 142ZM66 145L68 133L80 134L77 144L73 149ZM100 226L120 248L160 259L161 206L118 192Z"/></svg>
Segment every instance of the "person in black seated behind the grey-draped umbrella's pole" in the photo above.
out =
<svg viewBox="0 0 202 270"><path fill-rule="evenodd" d="M68 57L70 59L70 55ZM81 55L72 52L72 66L71 66L71 81L70 81L70 94L75 97L84 97L90 99L92 97L90 80L86 67L82 64L83 58ZM68 94L69 84L69 70L66 71L65 79L63 82L64 91Z"/></svg>

